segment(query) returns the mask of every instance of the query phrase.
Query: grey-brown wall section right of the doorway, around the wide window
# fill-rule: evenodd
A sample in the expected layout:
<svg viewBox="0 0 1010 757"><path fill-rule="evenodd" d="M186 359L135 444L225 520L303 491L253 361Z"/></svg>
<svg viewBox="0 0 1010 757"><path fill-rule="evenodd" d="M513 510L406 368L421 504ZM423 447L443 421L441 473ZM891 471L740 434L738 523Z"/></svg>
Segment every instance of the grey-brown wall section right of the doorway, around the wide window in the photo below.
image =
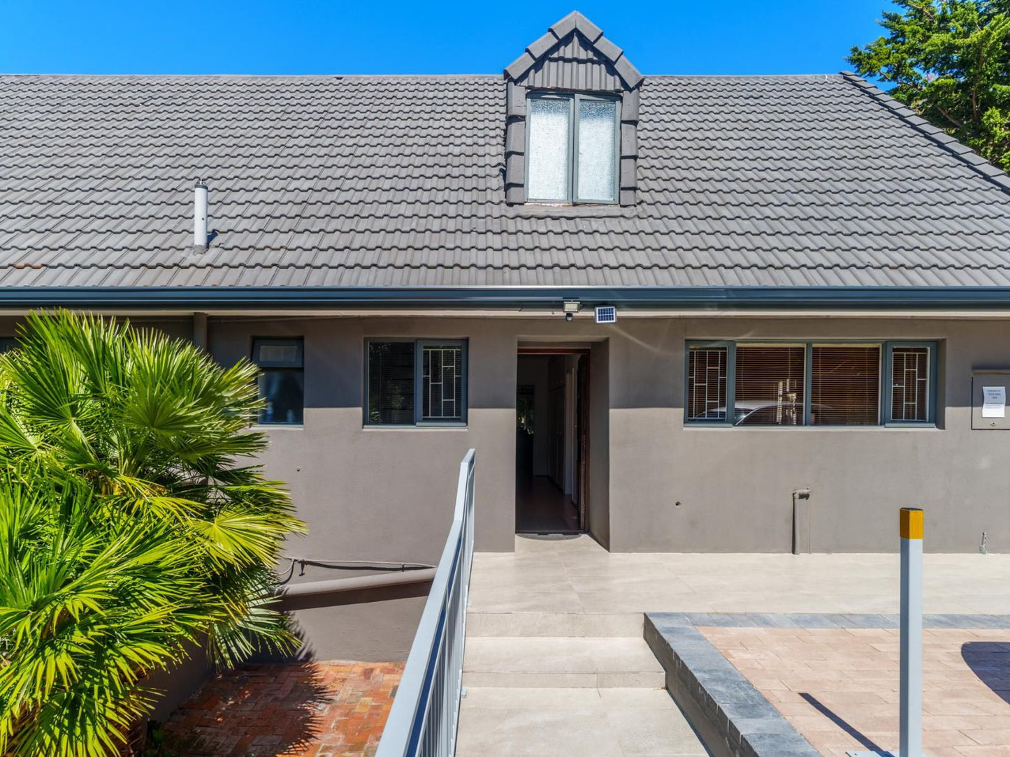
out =
<svg viewBox="0 0 1010 757"><path fill-rule="evenodd" d="M619 321L610 339L611 548L789 551L792 492L810 488L813 551L892 551L900 507L926 548L1010 550L1010 433L971 429L973 368L1010 366L995 321ZM935 339L938 428L690 428L686 339ZM678 507L677 503L680 503Z"/></svg>

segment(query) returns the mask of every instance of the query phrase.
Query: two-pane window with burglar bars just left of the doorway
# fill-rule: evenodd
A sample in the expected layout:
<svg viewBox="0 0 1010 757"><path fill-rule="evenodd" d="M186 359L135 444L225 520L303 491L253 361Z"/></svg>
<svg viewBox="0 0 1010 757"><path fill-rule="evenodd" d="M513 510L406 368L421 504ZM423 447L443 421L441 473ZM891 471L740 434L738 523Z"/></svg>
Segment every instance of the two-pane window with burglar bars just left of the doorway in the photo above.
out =
<svg viewBox="0 0 1010 757"><path fill-rule="evenodd" d="M466 342L372 339L366 353L368 425L466 423Z"/></svg>

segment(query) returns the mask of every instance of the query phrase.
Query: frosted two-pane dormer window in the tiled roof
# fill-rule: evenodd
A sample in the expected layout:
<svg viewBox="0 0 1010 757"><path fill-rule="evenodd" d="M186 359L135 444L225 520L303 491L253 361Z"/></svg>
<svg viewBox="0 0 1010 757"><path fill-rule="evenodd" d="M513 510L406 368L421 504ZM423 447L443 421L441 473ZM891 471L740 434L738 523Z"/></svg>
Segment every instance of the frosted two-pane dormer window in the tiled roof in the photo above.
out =
<svg viewBox="0 0 1010 757"><path fill-rule="evenodd" d="M526 123L527 202L617 202L619 97L532 93Z"/></svg>

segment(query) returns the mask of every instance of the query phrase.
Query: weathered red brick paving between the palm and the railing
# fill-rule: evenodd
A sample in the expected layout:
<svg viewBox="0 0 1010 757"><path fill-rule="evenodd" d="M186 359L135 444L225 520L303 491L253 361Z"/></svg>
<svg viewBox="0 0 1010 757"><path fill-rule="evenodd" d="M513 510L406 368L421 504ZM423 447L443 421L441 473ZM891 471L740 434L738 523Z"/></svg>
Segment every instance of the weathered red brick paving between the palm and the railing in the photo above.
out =
<svg viewBox="0 0 1010 757"><path fill-rule="evenodd" d="M207 681L165 724L169 754L373 755L402 663L243 665Z"/></svg>

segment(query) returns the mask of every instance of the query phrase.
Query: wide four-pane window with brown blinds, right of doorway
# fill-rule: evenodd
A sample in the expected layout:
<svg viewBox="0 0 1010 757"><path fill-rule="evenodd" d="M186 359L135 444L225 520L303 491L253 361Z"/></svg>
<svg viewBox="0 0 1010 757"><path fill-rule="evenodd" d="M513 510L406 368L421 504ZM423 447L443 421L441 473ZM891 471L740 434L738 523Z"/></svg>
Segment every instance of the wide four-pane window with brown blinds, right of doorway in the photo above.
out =
<svg viewBox="0 0 1010 757"><path fill-rule="evenodd" d="M687 352L688 423L934 423L932 343L689 342Z"/></svg>

